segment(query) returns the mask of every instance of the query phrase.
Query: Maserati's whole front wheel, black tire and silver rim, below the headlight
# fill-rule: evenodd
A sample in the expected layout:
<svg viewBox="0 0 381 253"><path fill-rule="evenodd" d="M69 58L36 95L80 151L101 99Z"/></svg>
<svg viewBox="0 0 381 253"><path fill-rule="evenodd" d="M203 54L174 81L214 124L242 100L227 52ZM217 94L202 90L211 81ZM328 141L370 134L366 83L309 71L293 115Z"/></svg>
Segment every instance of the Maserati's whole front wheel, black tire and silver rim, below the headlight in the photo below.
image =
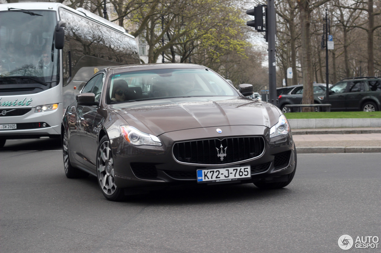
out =
<svg viewBox="0 0 381 253"><path fill-rule="evenodd" d="M97 178L98 185L104 197L110 201L120 201L125 198L124 189L115 184L114 161L110 141L103 136L97 149Z"/></svg>

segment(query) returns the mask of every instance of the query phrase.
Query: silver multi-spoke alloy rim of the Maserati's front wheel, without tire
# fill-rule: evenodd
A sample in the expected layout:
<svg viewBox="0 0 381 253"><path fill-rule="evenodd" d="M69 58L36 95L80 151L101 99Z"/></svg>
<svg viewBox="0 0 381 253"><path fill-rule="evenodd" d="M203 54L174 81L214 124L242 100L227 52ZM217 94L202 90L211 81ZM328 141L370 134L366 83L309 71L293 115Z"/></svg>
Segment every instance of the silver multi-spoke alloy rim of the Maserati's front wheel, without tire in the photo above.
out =
<svg viewBox="0 0 381 253"><path fill-rule="evenodd" d="M117 186L114 180L114 161L112 160L109 141L104 141L99 147L96 166L99 185L105 194L112 195Z"/></svg>

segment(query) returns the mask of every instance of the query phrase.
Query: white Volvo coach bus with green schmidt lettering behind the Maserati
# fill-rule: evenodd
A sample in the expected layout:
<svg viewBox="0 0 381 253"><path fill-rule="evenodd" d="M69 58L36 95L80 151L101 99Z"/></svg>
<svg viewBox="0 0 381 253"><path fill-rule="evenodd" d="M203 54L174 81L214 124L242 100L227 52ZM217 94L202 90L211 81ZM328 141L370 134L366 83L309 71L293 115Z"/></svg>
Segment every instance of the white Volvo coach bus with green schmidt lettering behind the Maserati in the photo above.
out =
<svg viewBox="0 0 381 253"><path fill-rule="evenodd" d="M107 66L139 63L133 36L83 8L0 5L0 147L58 137L66 107Z"/></svg>

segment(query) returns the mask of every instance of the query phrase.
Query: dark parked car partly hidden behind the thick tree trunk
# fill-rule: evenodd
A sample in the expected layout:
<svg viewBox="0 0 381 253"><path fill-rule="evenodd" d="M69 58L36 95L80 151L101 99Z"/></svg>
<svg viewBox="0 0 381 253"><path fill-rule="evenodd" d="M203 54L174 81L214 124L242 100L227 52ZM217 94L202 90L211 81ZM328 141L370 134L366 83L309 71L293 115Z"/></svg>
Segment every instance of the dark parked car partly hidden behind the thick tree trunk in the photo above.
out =
<svg viewBox="0 0 381 253"><path fill-rule="evenodd" d="M287 108L285 108L285 105L301 104L302 98L303 98L303 84L289 86L288 90L286 90L285 88L286 87L278 88L278 89L283 89L282 90L283 93L279 92L279 95L278 95L278 107L282 110L283 113L287 112ZM326 85L314 84L314 94L323 93L325 92L325 90L326 90ZM317 103L319 103L319 101L315 102L315 104ZM292 108L290 108L290 111L293 112Z"/></svg>

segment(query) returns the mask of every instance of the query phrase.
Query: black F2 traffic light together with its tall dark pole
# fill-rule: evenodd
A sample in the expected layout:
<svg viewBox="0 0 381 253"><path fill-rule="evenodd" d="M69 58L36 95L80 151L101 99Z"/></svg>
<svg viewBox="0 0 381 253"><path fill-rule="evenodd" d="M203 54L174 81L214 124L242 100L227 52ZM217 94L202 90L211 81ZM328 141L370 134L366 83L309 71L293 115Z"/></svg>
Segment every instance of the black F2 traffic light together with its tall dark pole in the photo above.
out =
<svg viewBox="0 0 381 253"><path fill-rule="evenodd" d="M277 105L277 80L275 63L275 5L274 0L268 0L267 5L257 5L248 9L246 14L254 16L254 20L247 21L246 25L254 27L258 32L265 32L264 38L269 47L269 102Z"/></svg>

